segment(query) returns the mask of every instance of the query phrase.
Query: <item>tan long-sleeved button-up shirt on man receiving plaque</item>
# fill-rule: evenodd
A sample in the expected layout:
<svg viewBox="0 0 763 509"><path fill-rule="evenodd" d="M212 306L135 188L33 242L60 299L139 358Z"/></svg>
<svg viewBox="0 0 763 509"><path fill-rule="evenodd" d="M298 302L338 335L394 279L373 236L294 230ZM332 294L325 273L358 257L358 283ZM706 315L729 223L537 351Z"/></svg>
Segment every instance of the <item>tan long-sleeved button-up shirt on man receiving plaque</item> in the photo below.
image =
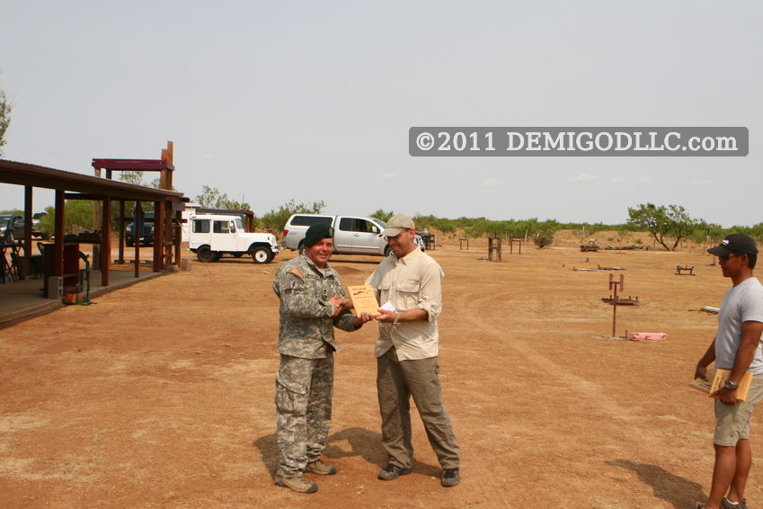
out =
<svg viewBox="0 0 763 509"><path fill-rule="evenodd" d="M403 258L387 256L366 284L377 290L379 304L391 302L398 312L419 308L427 320L379 324L374 353L380 357L393 345L401 361L428 359L438 354L437 317L442 310L442 272L439 264L418 247Z"/></svg>

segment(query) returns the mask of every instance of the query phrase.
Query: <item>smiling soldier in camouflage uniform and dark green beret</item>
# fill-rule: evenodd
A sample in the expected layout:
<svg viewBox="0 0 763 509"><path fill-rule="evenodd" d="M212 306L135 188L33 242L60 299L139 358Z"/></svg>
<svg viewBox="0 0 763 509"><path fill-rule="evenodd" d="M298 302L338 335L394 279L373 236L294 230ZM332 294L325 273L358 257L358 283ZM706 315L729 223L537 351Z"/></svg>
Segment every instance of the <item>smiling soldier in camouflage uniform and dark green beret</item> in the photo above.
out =
<svg viewBox="0 0 763 509"><path fill-rule="evenodd" d="M333 394L333 327L354 331L372 319L350 314L339 273L327 262L333 228L307 229L305 254L282 263L273 281L280 299L276 412L280 460L276 484L300 493L318 487L304 472L333 475L321 460L326 445Z"/></svg>

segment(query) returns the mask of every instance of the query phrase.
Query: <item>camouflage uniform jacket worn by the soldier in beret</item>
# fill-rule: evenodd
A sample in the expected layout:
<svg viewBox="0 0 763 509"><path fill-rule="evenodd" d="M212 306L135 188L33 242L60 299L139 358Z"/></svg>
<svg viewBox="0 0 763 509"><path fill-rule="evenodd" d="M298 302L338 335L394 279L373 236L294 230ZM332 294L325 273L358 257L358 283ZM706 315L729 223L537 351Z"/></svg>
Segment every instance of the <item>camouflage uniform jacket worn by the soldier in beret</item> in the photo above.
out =
<svg viewBox="0 0 763 509"><path fill-rule="evenodd" d="M273 280L273 291L280 299L279 353L320 359L326 348L336 350L333 327L354 331L350 311L333 317L334 296L344 298L339 273L326 265L321 271L306 255L281 263Z"/></svg>

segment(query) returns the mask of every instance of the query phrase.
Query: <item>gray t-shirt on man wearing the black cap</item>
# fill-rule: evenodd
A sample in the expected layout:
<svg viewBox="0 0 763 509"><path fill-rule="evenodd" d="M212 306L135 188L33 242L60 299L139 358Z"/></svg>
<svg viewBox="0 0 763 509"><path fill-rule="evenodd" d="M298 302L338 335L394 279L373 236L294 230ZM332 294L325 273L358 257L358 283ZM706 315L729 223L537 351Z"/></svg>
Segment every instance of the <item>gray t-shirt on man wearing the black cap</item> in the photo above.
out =
<svg viewBox="0 0 763 509"><path fill-rule="evenodd" d="M723 297L718 313L718 335L715 336L715 367L731 370L741 343L742 322L763 322L763 285L757 278L748 278L732 287ZM748 371L763 373L761 342Z"/></svg>

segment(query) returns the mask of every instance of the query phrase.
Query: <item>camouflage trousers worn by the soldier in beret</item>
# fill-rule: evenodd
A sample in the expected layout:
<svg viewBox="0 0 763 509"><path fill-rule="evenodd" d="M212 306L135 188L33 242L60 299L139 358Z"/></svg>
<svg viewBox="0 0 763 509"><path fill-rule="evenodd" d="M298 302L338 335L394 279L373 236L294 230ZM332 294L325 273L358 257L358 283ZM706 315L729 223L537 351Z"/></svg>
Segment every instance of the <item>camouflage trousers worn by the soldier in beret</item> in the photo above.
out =
<svg viewBox="0 0 763 509"><path fill-rule="evenodd" d="M280 356L276 375L279 469L285 478L302 475L326 446L333 396L333 352L325 359Z"/></svg>

